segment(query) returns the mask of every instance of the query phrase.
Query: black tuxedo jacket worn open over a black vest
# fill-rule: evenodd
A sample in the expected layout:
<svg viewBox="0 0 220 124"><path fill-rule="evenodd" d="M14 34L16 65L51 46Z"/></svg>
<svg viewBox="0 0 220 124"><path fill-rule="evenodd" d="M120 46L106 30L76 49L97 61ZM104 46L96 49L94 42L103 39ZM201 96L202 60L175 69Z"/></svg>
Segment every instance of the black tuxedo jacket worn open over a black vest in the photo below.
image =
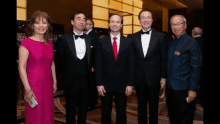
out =
<svg viewBox="0 0 220 124"><path fill-rule="evenodd" d="M87 64L88 64L88 79L91 79L91 64L90 64L90 55L91 55L91 38L85 35L86 43L86 55L87 55ZM58 68L61 73L62 83L66 92L74 92L74 86L78 84L74 83L76 69L77 69L77 56L75 49L75 42L73 34L69 33L61 36L57 40L57 63ZM72 87L73 85L73 87Z"/></svg>

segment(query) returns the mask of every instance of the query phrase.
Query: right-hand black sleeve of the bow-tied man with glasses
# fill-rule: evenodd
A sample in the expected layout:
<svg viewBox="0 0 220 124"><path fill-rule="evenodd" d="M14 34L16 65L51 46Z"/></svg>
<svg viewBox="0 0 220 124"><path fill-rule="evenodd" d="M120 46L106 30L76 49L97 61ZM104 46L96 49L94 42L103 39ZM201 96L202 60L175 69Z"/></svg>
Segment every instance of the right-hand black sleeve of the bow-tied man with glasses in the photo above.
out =
<svg viewBox="0 0 220 124"><path fill-rule="evenodd" d="M166 66L167 66L167 46L165 34L161 36L161 78L166 79Z"/></svg>

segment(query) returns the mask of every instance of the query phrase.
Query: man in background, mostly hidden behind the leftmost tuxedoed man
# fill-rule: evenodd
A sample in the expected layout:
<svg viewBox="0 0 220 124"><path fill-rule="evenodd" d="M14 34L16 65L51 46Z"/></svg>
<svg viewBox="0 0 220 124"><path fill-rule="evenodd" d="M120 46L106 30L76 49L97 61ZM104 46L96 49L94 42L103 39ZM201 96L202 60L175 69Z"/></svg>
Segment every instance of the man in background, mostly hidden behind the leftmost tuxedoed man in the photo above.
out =
<svg viewBox="0 0 220 124"><path fill-rule="evenodd" d="M97 49L97 45L99 43L99 37L96 34L96 32L93 30L94 27L94 22L92 19L87 19L86 20L86 27L85 27L85 32L89 37L91 38L91 66L92 66L92 79L91 83L89 83L88 86L88 108L93 109L95 108L95 105L97 104L97 90L96 90L96 82L95 82L95 50Z"/></svg>

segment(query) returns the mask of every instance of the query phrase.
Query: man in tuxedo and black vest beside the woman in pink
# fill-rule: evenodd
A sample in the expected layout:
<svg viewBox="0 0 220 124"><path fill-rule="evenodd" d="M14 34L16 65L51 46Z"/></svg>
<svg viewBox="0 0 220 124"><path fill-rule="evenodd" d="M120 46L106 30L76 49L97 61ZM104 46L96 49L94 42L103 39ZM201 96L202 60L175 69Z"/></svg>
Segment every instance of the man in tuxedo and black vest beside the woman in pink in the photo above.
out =
<svg viewBox="0 0 220 124"><path fill-rule="evenodd" d="M86 17L82 11L71 19L73 32L57 41L57 61L66 93L66 123L75 124L78 106L78 124L86 123L87 87L91 78L91 38L83 34Z"/></svg>

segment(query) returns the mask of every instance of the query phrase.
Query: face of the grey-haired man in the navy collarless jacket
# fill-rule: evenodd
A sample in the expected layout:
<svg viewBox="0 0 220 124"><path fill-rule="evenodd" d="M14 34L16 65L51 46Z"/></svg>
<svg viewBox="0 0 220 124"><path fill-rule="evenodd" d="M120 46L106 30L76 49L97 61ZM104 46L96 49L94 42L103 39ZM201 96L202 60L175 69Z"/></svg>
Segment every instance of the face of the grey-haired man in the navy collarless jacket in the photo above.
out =
<svg viewBox="0 0 220 124"><path fill-rule="evenodd" d="M177 38L181 37L185 33L186 22L183 20L182 16L173 16L170 20L170 24L172 32Z"/></svg>

